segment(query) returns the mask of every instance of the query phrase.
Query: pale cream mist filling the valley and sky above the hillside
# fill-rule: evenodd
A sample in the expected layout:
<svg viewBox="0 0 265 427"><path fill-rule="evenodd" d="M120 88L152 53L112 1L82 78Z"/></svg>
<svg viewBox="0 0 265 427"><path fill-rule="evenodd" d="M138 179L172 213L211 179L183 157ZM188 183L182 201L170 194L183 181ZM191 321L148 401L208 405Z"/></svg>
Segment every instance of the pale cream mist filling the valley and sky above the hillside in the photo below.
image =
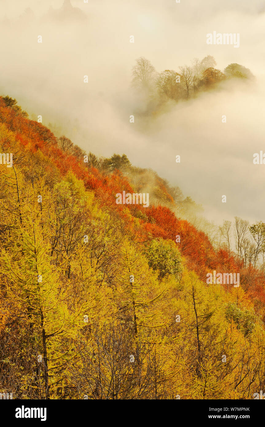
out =
<svg viewBox="0 0 265 427"><path fill-rule="evenodd" d="M30 118L42 115L56 136L66 135L87 152L125 153L132 164L157 171L201 203L208 219L265 220L264 172L253 164L253 154L265 152L263 2L15 3L0 6L1 94L16 98ZM240 33L239 48L207 45L213 31ZM141 114L146 100L131 87L136 58L148 58L160 73L179 72L207 55L221 71L242 64L255 82L231 80Z"/></svg>

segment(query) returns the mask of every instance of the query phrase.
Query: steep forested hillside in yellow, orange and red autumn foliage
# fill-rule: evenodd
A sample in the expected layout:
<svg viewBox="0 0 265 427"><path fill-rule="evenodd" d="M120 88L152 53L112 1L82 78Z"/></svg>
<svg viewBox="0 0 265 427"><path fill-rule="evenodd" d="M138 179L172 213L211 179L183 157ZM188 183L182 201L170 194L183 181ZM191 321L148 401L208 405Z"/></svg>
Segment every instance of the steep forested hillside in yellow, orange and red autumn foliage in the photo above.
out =
<svg viewBox="0 0 265 427"><path fill-rule="evenodd" d="M263 223L237 218L235 251L229 222L213 243L184 219L195 203L179 187L125 154L97 158L55 137L10 97L0 97L0 152L13 155L0 164L1 392L252 399L265 389ZM149 193L149 206L117 204L123 191ZM240 286L207 284L213 270L239 272Z"/></svg>

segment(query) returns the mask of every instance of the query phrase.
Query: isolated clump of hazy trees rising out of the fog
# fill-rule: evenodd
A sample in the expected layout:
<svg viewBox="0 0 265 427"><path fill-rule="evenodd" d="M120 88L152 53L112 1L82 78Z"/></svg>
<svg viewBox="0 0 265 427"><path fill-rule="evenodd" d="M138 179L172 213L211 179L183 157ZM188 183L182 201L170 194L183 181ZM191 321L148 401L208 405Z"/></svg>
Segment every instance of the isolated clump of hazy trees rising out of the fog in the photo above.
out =
<svg viewBox="0 0 265 427"><path fill-rule="evenodd" d="M140 57L132 69L132 85L145 95L157 94L161 101L178 101L213 88L223 80L254 79L251 71L243 65L229 64L223 72L215 66L215 58L208 55L202 60L194 58L190 66L180 66L178 71L164 70L157 73L148 59Z"/></svg>

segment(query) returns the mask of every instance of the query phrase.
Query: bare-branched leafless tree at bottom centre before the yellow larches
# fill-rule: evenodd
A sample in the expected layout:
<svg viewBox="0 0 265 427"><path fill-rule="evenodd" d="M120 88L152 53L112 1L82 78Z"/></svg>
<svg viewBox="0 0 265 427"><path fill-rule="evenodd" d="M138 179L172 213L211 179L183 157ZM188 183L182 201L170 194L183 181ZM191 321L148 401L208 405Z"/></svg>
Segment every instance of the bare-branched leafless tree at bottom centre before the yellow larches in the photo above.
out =
<svg viewBox="0 0 265 427"><path fill-rule="evenodd" d="M79 335L80 360L73 360L69 378L79 398L161 399L166 398L166 377L155 345L146 335L134 339L125 323L102 327L92 325L87 340Z"/></svg>

